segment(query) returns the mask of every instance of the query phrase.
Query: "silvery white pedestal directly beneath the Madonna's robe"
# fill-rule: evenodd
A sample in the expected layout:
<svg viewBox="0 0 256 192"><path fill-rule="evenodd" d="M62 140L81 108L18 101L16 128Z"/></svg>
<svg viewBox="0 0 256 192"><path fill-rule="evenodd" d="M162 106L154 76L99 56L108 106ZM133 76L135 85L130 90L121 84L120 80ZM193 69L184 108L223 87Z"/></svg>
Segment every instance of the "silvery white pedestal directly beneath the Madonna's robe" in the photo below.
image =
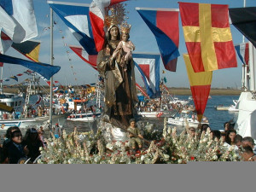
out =
<svg viewBox="0 0 256 192"><path fill-rule="evenodd" d="M127 133L124 130L106 122L104 116L98 121L98 129L102 131L102 135L107 143L111 143L113 140L120 142L129 140Z"/></svg>

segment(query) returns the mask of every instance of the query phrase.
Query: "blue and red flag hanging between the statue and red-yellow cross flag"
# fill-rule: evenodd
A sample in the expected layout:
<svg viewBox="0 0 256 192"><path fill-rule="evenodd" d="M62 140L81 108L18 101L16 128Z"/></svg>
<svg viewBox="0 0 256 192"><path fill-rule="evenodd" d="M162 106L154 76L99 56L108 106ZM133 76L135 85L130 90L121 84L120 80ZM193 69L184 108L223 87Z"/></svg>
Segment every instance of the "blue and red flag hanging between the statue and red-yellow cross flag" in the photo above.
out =
<svg viewBox="0 0 256 192"><path fill-rule="evenodd" d="M176 72L179 56L178 9L136 9L154 33L166 70Z"/></svg>

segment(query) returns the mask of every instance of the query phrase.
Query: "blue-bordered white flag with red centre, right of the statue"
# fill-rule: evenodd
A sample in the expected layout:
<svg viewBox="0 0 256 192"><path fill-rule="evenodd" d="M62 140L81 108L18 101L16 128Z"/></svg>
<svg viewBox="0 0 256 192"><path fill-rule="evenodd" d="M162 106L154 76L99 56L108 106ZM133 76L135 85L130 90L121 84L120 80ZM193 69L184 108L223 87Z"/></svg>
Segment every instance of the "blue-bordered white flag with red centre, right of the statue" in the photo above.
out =
<svg viewBox="0 0 256 192"><path fill-rule="evenodd" d="M143 77L148 96L160 97L160 55L133 53L132 57Z"/></svg>

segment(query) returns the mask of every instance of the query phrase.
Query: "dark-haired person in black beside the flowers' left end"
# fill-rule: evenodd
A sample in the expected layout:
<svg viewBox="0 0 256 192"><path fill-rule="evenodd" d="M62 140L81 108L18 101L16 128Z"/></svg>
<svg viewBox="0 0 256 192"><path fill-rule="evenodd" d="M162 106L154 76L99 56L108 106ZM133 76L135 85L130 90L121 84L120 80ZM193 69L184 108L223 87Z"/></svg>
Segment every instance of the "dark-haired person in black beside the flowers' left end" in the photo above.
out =
<svg viewBox="0 0 256 192"><path fill-rule="evenodd" d="M44 147L39 138L38 131L35 128L30 128L26 130L24 137L24 143L26 143L29 153L27 154L28 158L31 158L31 161L34 161L40 155L40 147Z"/></svg>

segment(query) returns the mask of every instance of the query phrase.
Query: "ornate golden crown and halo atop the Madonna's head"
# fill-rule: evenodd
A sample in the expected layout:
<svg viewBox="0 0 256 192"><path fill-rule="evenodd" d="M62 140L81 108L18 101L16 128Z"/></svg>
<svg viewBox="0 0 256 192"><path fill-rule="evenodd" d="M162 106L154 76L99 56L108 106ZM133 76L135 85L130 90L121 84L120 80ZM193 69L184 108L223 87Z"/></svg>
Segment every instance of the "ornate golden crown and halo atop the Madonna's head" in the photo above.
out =
<svg viewBox="0 0 256 192"><path fill-rule="evenodd" d="M106 27L111 27L113 25L118 26L125 20L125 4L117 3L112 6L108 6L105 9L105 21Z"/></svg>

